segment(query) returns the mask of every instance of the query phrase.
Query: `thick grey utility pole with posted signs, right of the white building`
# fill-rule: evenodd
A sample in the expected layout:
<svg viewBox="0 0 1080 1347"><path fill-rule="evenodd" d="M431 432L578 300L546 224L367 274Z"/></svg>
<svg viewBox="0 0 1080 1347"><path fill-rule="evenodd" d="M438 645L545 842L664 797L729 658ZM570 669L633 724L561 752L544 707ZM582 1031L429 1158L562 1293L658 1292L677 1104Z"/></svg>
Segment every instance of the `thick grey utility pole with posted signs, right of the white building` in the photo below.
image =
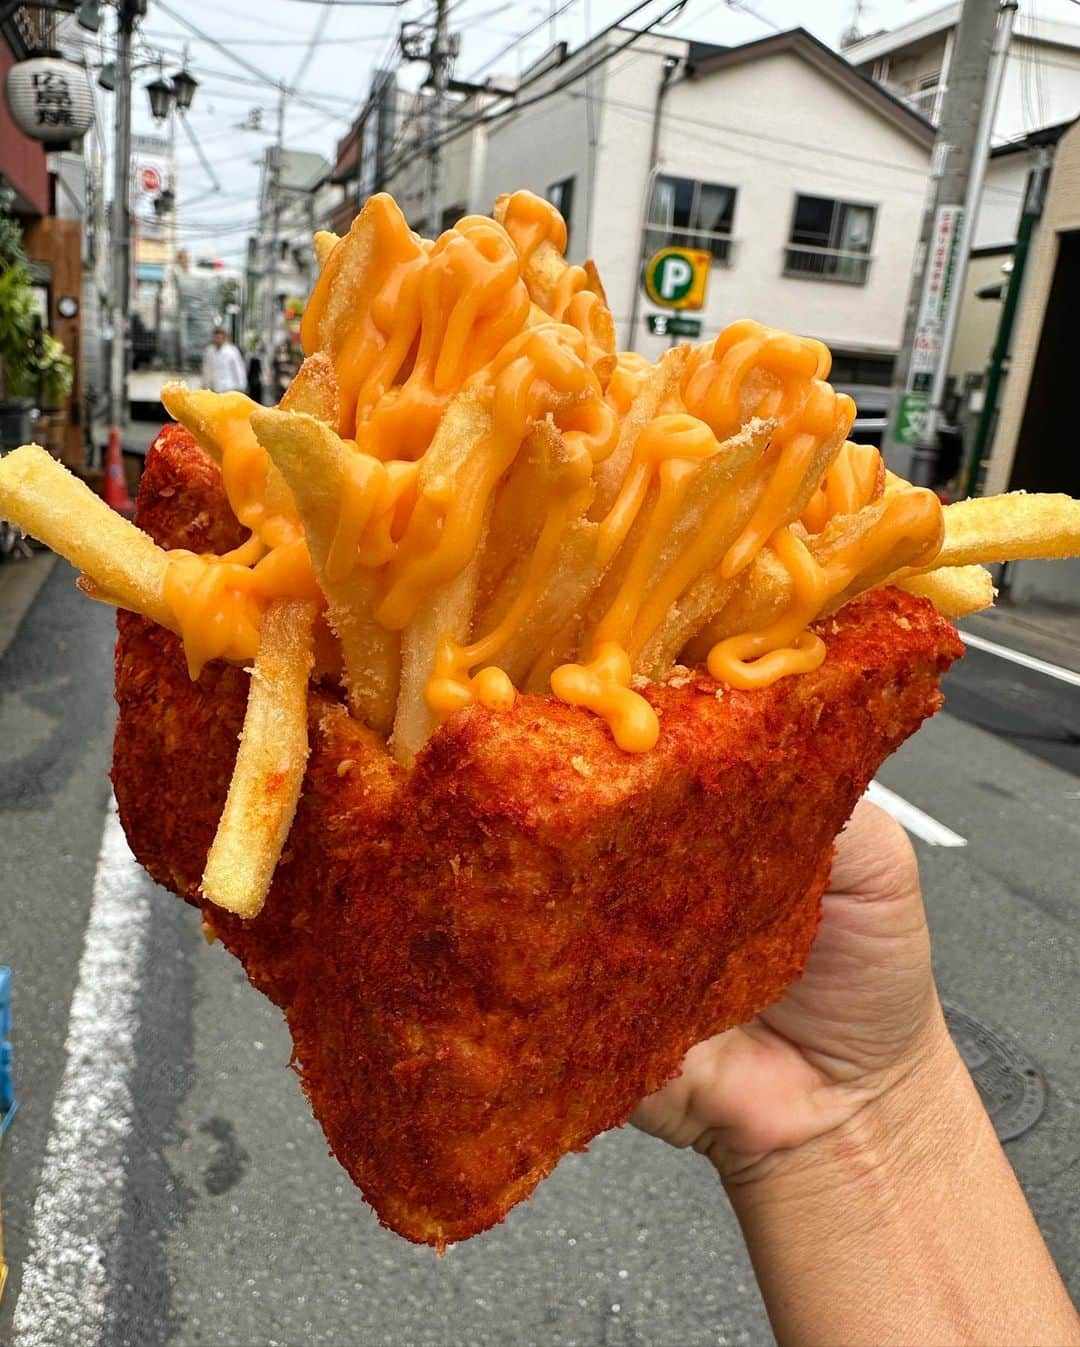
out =
<svg viewBox="0 0 1080 1347"><path fill-rule="evenodd" d="M932 478L937 458L935 431L1015 8L1015 0L1001 5L964 0L944 75L948 84L883 446L889 465L917 484ZM994 89L991 53L999 57Z"/></svg>

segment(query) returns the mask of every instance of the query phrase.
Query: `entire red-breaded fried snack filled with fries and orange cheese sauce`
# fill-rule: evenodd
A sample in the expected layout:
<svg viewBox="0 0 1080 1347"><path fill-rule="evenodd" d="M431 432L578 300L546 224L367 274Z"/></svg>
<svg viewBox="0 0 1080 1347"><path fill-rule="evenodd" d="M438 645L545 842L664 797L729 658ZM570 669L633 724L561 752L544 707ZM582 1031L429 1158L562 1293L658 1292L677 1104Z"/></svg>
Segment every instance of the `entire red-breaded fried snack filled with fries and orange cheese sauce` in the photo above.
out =
<svg viewBox="0 0 1080 1347"><path fill-rule="evenodd" d="M975 610L976 563L1080 548L1080 505L943 512L847 439L811 338L615 352L529 193L436 240L378 194L316 253L279 407L167 389L145 532L35 447L0 509L131 610L136 854L284 1008L380 1218L442 1246L782 993L959 653L917 594Z"/></svg>

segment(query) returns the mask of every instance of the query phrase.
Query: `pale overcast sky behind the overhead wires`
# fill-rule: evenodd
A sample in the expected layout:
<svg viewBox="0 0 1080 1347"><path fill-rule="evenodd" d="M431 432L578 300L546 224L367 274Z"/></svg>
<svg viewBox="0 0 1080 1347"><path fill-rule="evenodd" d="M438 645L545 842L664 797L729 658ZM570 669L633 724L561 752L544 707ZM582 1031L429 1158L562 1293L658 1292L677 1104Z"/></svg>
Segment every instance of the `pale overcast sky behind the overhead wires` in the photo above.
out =
<svg viewBox="0 0 1080 1347"><path fill-rule="evenodd" d="M671 0L654 0L634 15L642 27L661 13ZM874 32L897 27L940 8L941 0L865 0L859 28ZM630 0L558 0L521 4L506 0L452 0L451 31L461 34L461 54L454 67L459 78L483 79L517 74L551 43L551 9L563 9L553 22L556 40L571 48L588 34L619 19ZM839 46L840 32L851 23L854 0L687 0L681 13L663 32L703 42L737 44L766 36L770 31L799 24L830 46ZM370 4L338 0L149 0L137 38L137 59L164 58L171 73L187 51L189 69L199 79L189 124L211 162L221 189L199 164L182 127L176 128L178 234L194 257L220 257L240 265L245 238L253 232L259 162L272 143L276 90L284 81L296 89L285 104L285 145L311 150L333 162L335 144L361 108L370 73L386 65L393 53L399 24L430 18L428 0L407 4ZM1080 22L1080 4L1071 0L1023 0L1022 12L1040 19ZM106 24L112 23L112 11ZM548 20L548 22L545 22ZM540 26L528 40L514 43L527 30ZM197 36L198 28L205 36ZM100 35L108 55L112 34ZM220 43L221 46L214 46ZM226 48L226 50L222 50ZM246 63L244 69L238 62ZM255 69L250 69L255 67ZM140 85L158 73L149 65L137 71L133 97L136 132L162 133L154 123ZM419 82L423 66L405 67L405 81ZM106 124L110 100L102 98ZM256 110L257 109L257 110ZM261 131L248 129L261 119Z"/></svg>

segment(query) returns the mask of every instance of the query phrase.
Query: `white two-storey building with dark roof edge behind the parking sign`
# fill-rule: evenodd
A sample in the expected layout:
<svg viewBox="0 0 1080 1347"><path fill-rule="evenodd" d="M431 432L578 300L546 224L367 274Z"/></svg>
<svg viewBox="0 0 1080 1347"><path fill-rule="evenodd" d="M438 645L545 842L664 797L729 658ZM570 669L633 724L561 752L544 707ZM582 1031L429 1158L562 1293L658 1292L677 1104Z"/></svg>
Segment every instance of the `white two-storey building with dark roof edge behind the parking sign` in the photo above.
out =
<svg viewBox="0 0 1080 1347"><path fill-rule="evenodd" d="M556 201L594 256L619 343L656 354L642 253L712 253L703 337L735 318L819 337L842 384L887 383L901 338L933 129L801 28L723 48L615 30L489 123L483 190ZM529 105L605 46L591 74ZM548 62L551 58L547 58ZM543 69L543 67L541 67Z"/></svg>

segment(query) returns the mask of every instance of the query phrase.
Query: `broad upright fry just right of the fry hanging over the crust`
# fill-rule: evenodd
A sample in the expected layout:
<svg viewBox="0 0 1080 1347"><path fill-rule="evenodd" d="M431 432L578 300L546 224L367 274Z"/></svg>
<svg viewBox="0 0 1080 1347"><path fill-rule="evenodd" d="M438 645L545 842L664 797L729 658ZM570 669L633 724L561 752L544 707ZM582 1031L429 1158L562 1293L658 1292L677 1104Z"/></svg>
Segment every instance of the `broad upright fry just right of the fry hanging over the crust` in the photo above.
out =
<svg viewBox="0 0 1080 1347"><path fill-rule="evenodd" d="M327 617L341 641L349 709L386 733L397 694L399 636L374 620L370 571L349 567L335 574L327 566L351 474L366 455L304 412L263 408L252 416L252 427L296 501Z"/></svg>

